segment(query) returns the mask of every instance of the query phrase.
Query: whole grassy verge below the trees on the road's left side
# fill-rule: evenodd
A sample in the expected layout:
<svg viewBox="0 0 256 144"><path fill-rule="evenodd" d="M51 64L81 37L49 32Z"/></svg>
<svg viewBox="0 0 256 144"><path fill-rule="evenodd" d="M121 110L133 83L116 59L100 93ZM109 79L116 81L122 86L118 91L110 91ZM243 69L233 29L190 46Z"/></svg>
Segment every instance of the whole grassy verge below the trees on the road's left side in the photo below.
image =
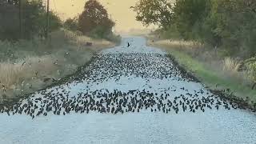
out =
<svg viewBox="0 0 256 144"><path fill-rule="evenodd" d="M93 46L85 46L86 42ZM0 46L1 103L49 86L54 80L74 73L99 50L115 44L58 30L51 34L50 44L35 38L15 43L0 41Z"/></svg>

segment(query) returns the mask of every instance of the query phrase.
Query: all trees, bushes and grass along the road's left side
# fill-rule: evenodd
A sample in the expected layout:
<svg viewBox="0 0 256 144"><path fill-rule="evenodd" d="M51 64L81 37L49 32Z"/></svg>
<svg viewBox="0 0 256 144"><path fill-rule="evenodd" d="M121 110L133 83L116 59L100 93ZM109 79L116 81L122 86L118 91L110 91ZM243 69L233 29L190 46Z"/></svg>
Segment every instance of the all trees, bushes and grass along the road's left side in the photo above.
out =
<svg viewBox="0 0 256 144"><path fill-rule="evenodd" d="M18 24L18 1L0 2L0 103L58 82L89 62L94 53L120 42L120 36L112 33L114 22L97 1L86 2L78 18L103 15L98 18L101 22L90 27L91 31L86 27L97 18L90 21L70 18L62 22L57 14L50 12L49 38L46 38L46 7L42 1L23 2L22 27ZM105 21L111 25L105 25Z"/></svg>

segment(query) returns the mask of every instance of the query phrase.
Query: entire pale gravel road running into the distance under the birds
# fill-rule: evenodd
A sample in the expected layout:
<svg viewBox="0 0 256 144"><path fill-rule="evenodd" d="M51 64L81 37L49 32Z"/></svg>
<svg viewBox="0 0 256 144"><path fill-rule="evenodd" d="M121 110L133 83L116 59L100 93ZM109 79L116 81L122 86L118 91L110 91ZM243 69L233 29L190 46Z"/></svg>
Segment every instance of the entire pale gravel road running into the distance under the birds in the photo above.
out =
<svg viewBox="0 0 256 144"><path fill-rule="evenodd" d="M138 37L0 112L3 144L256 143L254 113L211 94Z"/></svg>

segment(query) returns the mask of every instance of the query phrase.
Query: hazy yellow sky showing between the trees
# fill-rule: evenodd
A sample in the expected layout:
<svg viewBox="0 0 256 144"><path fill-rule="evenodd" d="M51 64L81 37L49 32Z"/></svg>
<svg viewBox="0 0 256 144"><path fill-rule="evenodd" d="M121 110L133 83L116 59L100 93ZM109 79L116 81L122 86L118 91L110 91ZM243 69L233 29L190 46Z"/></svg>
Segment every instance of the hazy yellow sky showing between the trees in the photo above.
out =
<svg viewBox="0 0 256 144"><path fill-rule="evenodd" d="M50 7L57 11L63 19L80 14L87 0L50 0ZM111 18L116 21L116 30L143 29L141 22L135 20L134 6L138 0L98 0L108 10Z"/></svg>

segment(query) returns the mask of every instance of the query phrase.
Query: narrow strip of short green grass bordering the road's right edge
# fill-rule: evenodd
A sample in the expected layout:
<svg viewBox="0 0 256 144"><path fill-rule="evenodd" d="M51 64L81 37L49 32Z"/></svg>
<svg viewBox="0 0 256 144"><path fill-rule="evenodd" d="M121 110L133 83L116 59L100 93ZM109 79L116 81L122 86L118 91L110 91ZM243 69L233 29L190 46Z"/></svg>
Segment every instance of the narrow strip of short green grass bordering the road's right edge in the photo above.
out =
<svg viewBox="0 0 256 144"><path fill-rule="evenodd" d="M220 70L210 67L207 62L201 62L196 58L192 58L189 54L182 50L178 50L167 44L155 43L153 46L166 50L173 55L179 65L186 68L197 77L206 86L213 90L230 89L234 95L239 98L249 97L251 101L256 102L256 90L251 90L250 86L241 82L239 78L230 77L222 73ZM218 86L216 86L218 85Z"/></svg>

